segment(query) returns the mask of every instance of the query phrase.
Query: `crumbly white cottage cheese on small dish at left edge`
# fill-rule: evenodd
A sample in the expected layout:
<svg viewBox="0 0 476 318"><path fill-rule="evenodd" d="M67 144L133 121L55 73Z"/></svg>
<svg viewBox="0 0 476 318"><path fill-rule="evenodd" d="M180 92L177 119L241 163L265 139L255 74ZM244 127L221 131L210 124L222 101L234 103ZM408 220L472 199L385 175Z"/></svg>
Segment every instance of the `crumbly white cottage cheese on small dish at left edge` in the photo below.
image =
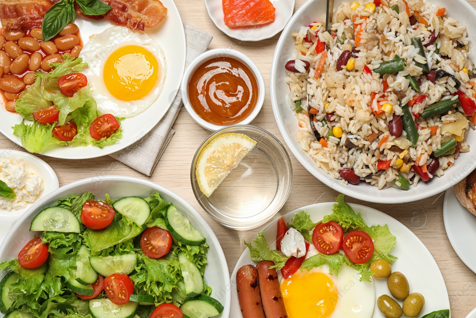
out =
<svg viewBox="0 0 476 318"><path fill-rule="evenodd" d="M25 169L21 159L12 161L9 158L1 158L0 180L15 192L13 200L0 197L0 208L8 211L24 209L27 204L34 202L44 189L41 177L34 171Z"/></svg>

